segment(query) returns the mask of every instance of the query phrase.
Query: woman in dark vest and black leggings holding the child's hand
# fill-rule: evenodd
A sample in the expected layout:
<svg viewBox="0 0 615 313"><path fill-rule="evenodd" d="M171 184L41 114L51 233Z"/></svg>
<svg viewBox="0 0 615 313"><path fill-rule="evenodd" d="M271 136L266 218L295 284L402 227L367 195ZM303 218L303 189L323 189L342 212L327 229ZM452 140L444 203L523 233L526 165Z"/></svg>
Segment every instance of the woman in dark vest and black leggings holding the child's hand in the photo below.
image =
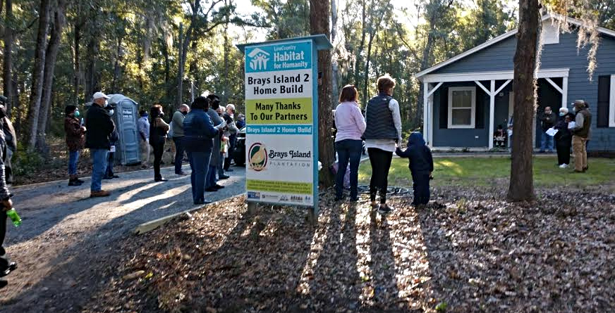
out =
<svg viewBox="0 0 615 313"><path fill-rule="evenodd" d="M363 138L372 165L370 200L372 207L378 207L378 212L384 214L393 210L386 205L386 189L396 143L401 142L401 116L399 103L393 98L395 79L384 75L378 78L377 84L378 95L371 98L365 108L367 127ZM380 205L376 203L377 192L380 193Z"/></svg>

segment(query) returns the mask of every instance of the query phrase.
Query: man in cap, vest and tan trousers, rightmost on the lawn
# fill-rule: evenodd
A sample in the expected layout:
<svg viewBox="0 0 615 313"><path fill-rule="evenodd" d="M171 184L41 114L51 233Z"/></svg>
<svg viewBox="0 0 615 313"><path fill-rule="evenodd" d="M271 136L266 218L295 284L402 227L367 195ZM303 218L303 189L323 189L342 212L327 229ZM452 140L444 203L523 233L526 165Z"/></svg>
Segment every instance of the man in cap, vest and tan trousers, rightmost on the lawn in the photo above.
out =
<svg viewBox="0 0 615 313"><path fill-rule="evenodd" d="M576 112L575 124L571 128L574 171L582 173L589 168L587 166L587 146L585 143L590 140L592 134L592 113L587 109L583 100L574 101L574 110Z"/></svg>

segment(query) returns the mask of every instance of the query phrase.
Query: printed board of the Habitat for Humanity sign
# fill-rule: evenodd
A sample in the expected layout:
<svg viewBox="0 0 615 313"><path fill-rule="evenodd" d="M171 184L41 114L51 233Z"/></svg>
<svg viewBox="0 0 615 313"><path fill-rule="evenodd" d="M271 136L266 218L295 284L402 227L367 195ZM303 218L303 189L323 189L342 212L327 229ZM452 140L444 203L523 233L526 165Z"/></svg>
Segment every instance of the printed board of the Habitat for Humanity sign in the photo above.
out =
<svg viewBox="0 0 615 313"><path fill-rule="evenodd" d="M313 205L312 41L245 47L248 200Z"/></svg>

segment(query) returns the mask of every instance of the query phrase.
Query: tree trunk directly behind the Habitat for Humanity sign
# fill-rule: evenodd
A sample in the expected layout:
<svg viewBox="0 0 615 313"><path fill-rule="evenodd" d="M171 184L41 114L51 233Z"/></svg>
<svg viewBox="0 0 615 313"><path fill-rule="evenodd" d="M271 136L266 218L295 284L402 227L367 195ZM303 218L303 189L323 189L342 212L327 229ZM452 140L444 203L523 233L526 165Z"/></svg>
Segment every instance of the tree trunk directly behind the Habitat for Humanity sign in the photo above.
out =
<svg viewBox="0 0 615 313"><path fill-rule="evenodd" d="M310 29L312 34L326 34L329 30L329 1L310 0ZM334 177L329 171L335 160L333 116L331 115L331 51L318 51L318 72L322 72L322 84L318 86L318 153L323 170L320 171L320 184L333 186ZM316 77L315 77L316 78Z"/></svg>

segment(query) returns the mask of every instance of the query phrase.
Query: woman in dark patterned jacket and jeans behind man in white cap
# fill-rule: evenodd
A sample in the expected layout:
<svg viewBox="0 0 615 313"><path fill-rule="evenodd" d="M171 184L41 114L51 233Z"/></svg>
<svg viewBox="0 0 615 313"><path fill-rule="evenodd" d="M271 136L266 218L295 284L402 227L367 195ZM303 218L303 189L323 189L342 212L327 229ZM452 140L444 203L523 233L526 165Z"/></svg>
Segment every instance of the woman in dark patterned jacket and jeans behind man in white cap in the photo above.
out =
<svg viewBox="0 0 615 313"><path fill-rule="evenodd" d="M77 176L77 163L79 153L85 146L85 127L81 126L80 113L76 106L66 106L64 113L64 132L68 146L68 186L80 186L83 180Z"/></svg>

